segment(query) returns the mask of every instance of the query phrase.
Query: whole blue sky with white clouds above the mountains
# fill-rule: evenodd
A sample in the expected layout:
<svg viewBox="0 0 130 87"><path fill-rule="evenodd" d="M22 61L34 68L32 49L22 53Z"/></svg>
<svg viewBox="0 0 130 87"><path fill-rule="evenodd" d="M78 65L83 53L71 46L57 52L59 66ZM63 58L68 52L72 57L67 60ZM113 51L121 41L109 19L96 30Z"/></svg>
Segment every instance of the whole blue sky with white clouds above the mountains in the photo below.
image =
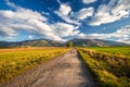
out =
<svg viewBox="0 0 130 87"><path fill-rule="evenodd" d="M0 40L130 44L130 0L0 0Z"/></svg>

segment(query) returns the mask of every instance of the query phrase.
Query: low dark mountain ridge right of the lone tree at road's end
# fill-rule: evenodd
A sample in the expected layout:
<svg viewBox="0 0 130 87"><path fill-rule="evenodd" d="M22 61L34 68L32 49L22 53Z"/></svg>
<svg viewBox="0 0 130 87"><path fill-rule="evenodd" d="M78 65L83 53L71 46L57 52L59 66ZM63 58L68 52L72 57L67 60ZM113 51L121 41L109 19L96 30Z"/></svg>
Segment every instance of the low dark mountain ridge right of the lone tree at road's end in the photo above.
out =
<svg viewBox="0 0 130 87"><path fill-rule="evenodd" d="M74 39L70 41L74 42L74 46L98 46L98 47L128 46L127 44L122 44L122 42L101 40L101 39Z"/></svg>

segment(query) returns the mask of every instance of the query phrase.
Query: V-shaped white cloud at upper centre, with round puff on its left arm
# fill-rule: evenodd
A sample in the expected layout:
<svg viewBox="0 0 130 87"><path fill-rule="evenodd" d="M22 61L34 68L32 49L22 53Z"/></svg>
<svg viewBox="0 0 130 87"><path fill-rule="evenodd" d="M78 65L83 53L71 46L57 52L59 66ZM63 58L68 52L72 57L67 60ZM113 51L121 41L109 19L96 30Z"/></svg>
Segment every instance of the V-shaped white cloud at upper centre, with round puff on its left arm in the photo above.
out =
<svg viewBox="0 0 130 87"><path fill-rule="evenodd" d="M57 11L54 11L65 22L70 24L76 24L80 26L80 21L86 20L89 16L92 16L94 12L93 8L83 8L77 12L73 12L72 8L68 4L62 3Z"/></svg>

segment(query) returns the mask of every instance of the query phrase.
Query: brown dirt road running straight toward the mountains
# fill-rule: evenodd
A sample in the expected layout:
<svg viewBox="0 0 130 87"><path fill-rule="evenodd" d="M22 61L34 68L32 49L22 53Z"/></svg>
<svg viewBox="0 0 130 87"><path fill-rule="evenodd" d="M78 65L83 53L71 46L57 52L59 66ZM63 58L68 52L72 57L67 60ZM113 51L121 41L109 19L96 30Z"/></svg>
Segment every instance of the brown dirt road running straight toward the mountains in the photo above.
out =
<svg viewBox="0 0 130 87"><path fill-rule="evenodd" d="M0 87L94 87L75 49L31 69Z"/></svg>

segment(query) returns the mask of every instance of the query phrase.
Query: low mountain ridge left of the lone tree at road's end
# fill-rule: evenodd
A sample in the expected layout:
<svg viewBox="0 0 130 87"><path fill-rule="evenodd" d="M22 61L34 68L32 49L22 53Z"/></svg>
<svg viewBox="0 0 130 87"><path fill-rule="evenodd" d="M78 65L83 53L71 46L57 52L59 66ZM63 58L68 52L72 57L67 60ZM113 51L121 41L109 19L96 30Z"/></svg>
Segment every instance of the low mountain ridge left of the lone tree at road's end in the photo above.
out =
<svg viewBox="0 0 130 87"><path fill-rule="evenodd" d="M0 47L49 47L49 46L58 47L62 46L62 44L55 40L48 39L35 39L17 42L0 41Z"/></svg>

